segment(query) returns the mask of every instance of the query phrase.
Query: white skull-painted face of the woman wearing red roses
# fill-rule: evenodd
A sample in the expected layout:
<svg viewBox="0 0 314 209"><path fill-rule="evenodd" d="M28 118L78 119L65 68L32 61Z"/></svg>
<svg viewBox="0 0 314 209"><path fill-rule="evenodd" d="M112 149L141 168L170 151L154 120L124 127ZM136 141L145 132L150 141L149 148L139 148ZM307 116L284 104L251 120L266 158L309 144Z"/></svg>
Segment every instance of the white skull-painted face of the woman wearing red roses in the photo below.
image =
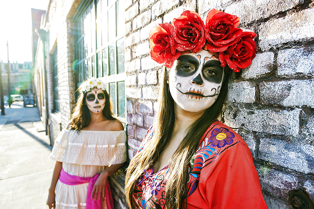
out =
<svg viewBox="0 0 314 209"><path fill-rule="evenodd" d="M216 101L223 75L217 53L203 49L197 53L184 52L170 70L171 96L186 111L204 111Z"/></svg>

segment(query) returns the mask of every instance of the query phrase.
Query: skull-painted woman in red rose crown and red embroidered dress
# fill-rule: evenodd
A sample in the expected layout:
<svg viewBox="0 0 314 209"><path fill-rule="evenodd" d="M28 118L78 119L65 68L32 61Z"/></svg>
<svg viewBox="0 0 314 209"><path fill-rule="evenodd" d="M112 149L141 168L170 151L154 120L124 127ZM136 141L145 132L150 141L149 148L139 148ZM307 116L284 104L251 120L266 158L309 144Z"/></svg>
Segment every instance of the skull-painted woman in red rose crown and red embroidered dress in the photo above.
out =
<svg viewBox="0 0 314 209"><path fill-rule="evenodd" d="M130 208L267 208L249 148L217 120L231 69L256 55L239 20L185 11L151 30L151 58L165 69L154 124L127 169Z"/></svg>

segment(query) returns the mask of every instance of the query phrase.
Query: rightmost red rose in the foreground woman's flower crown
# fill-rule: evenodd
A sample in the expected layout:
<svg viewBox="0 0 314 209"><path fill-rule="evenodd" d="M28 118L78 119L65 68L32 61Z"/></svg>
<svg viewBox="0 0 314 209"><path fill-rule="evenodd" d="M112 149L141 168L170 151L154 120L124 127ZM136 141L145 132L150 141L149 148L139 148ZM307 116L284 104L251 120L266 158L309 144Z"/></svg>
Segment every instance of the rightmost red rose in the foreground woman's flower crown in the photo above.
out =
<svg viewBox="0 0 314 209"><path fill-rule="evenodd" d="M221 66L228 64L233 71L239 72L240 68L251 65L256 56L256 43L253 40L255 36L253 32L243 32L238 43L224 52L219 52Z"/></svg>

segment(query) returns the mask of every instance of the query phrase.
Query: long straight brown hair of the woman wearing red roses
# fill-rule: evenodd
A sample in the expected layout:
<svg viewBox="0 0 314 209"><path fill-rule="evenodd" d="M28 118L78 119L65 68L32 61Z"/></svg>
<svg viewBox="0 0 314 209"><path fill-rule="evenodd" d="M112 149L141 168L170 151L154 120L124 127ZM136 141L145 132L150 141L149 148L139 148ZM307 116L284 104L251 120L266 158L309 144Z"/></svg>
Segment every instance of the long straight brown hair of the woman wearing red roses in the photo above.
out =
<svg viewBox="0 0 314 209"><path fill-rule="evenodd" d="M129 208L139 208L133 197L133 190L138 178L158 161L160 154L169 144L172 136L175 113L174 101L168 92L169 84L166 79L170 69L164 68L163 79L160 83L159 109L154 121L154 139L148 142L140 153L134 156L127 168L125 193ZM187 135L181 141L179 148L170 159L168 179L165 187L165 204L167 208L182 209L187 208L187 181L188 164L195 153L199 140L203 133L219 117L223 103L228 94L228 82L230 68L225 67L224 78L221 85L220 94L214 104L205 110L203 115L190 125ZM181 174L181 175L178 175Z"/></svg>

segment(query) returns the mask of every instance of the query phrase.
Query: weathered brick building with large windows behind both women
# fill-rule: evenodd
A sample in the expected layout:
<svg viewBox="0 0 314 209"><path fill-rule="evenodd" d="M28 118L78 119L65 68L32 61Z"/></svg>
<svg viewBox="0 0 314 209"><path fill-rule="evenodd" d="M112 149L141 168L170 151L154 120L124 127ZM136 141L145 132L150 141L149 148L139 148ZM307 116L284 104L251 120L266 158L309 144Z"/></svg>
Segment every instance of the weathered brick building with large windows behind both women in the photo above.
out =
<svg viewBox="0 0 314 209"><path fill-rule="evenodd" d="M220 120L249 146L269 208L313 205L312 1L51 0L34 62L37 103L51 144L71 117L77 87L103 77L132 159L158 107L162 66L150 58L150 29L184 10L204 19L213 8L237 15L239 28L257 34L257 56L233 74ZM115 208L127 208L124 176L119 171L110 179Z"/></svg>

